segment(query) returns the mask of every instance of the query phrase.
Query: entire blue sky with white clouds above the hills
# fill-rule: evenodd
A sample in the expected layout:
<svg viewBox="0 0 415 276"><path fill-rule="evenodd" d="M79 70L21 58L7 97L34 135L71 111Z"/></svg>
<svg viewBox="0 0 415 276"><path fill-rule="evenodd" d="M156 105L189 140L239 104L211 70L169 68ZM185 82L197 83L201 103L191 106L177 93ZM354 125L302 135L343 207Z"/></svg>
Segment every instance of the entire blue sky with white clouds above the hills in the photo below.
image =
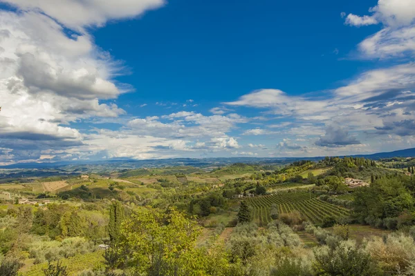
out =
<svg viewBox="0 0 415 276"><path fill-rule="evenodd" d="M413 148L414 57L415 0L0 0L0 164Z"/></svg>

